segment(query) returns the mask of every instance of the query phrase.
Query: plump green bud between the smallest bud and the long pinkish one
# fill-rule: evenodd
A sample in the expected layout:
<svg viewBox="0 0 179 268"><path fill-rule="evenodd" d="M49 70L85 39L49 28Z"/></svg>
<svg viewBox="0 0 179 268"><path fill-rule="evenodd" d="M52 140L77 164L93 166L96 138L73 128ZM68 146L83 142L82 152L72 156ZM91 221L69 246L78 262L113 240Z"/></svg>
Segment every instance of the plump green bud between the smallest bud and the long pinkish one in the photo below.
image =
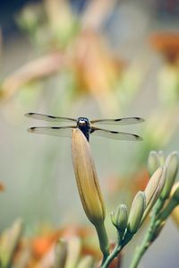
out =
<svg viewBox="0 0 179 268"><path fill-rule="evenodd" d="M127 226L127 230L129 233L136 233L137 229L140 227L141 219L145 208L145 194L143 192L138 192L133 199L132 207L129 213L129 220Z"/></svg>

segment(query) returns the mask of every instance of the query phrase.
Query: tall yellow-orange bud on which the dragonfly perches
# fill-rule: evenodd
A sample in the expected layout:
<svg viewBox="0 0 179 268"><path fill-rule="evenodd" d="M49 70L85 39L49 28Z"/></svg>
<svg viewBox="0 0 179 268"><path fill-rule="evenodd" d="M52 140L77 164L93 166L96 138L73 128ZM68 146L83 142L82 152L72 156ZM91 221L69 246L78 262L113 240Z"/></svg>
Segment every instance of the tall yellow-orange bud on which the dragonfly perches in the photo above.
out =
<svg viewBox="0 0 179 268"><path fill-rule="evenodd" d="M72 130L72 162L83 209L94 225L99 224L105 220L105 205L90 144L80 129Z"/></svg>

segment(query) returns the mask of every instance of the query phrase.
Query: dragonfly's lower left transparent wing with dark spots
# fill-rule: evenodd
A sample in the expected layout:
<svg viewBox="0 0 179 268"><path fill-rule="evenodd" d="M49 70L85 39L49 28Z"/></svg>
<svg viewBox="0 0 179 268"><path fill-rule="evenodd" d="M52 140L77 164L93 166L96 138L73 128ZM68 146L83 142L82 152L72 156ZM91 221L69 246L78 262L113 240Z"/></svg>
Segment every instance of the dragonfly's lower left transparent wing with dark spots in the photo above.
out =
<svg viewBox="0 0 179 268"><path fill-rule="evenodd" d="M72 137L72 129L74 129L74 128L76 128L75 125L62 126L62 127L37 126L37 127L30 127L28 129L28 131L30 133L34 133L34 134L47 134L47 135L52 135L52 136L71 138Z"/></svg>

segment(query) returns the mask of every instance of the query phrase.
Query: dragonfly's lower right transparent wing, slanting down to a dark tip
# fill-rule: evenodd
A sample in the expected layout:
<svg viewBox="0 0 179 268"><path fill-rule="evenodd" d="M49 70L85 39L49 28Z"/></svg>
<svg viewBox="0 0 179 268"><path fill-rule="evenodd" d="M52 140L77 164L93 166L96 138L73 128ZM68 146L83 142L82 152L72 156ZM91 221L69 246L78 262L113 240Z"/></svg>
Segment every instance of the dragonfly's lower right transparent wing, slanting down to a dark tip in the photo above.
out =
<svg viewBox="0 0 179 268"><path fill-rule="evenodd" d="M110 131L107 129L91 127L90 133L92 135L98 135L102 137L107 137L115 140L125 140L125 141L142 141L142 138L136 134L129 134L125 132Z"/></svg>

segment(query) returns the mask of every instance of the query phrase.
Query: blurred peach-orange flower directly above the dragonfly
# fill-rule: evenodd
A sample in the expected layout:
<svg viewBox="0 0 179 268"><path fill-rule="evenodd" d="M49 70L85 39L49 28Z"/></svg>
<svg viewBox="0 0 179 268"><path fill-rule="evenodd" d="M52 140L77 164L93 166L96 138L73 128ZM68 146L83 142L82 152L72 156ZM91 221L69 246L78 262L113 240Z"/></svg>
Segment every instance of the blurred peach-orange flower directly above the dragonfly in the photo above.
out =
<svg viewBox="0 0 179 268"><path fill-rule="evenodd" d="M93 30L82 31L72 49L79 92L89 93L100 106L116 108L113 92L124 71L124 61L112 56Z"/></svg>

